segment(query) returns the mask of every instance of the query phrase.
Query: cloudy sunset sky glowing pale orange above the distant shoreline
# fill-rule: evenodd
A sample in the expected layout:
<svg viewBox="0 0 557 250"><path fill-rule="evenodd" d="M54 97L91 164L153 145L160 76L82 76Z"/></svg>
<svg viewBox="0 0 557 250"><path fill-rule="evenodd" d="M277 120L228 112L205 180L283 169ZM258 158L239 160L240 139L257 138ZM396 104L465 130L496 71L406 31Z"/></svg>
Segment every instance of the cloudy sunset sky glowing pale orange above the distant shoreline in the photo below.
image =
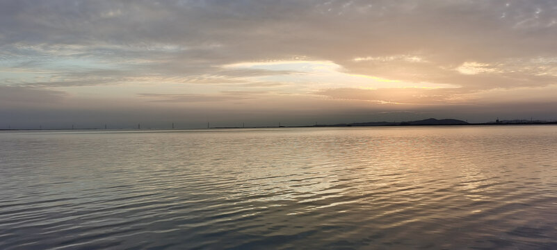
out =
<svg viewBox="0 0 557 250"><path fill-rule="evenodd" d="M557 119L557 1L0 1L0 128Z"/></svg>

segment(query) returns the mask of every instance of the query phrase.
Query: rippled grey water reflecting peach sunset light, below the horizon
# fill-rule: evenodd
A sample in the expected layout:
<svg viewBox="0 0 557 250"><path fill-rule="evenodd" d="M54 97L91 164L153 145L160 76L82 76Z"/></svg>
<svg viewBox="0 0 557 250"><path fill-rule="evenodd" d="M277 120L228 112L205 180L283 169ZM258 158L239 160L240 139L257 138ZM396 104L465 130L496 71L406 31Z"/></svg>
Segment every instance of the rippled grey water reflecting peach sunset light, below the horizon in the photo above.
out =
<svg viewBox="0 0 557 250"><path fill-rule="evenodd" d="M0 249L557 249L557 126L0 133Z"/></svg>

